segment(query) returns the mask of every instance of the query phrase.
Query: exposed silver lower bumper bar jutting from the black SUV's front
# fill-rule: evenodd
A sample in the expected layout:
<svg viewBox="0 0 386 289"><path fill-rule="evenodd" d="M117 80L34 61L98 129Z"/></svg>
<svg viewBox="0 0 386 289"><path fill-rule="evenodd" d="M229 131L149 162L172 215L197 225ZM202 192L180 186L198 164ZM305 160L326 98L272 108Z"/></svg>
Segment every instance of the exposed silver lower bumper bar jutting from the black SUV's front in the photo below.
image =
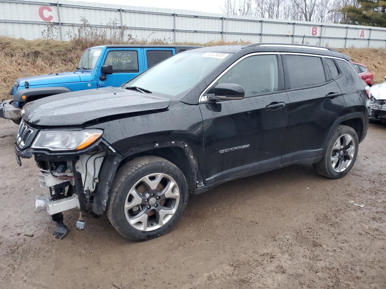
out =
<svg viewBox="0 0 386 289"><path fill-rule="evenodd" d="M56 213L61 213L73 208L80 208L77 195L71 197L59 199L56 201L50 201L47 195L37 195L35 200L35 213L39 213L43 210L47 210L51 216Z"/></svg>

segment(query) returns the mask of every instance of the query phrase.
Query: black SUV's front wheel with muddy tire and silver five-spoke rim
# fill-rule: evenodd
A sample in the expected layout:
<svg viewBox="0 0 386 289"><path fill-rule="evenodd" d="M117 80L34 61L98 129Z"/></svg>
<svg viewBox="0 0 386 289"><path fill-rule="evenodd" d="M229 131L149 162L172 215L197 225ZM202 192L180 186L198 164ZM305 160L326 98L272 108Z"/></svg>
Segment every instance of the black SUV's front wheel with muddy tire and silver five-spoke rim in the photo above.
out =
<svg viewBox="0 0 386 289"><path fill-rule="evenodd" d="M185 175L168 160L143 156L116 173L106 213L125 238L149 240L169 232L188 202Z"/></svg>

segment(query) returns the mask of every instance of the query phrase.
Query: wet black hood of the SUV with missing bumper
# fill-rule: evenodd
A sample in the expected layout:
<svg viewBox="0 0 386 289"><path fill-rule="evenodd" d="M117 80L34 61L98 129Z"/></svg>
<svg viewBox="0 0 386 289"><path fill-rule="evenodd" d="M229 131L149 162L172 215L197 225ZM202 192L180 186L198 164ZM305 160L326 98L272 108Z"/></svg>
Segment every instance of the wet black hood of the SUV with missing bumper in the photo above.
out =
<svg viewBox="0 0 386 289"><path fill-rule="evenodd" d="M67 92L27 103L20 115L41 126L72 126L105 116L168 108L170 99L106 87Z"/></svg>

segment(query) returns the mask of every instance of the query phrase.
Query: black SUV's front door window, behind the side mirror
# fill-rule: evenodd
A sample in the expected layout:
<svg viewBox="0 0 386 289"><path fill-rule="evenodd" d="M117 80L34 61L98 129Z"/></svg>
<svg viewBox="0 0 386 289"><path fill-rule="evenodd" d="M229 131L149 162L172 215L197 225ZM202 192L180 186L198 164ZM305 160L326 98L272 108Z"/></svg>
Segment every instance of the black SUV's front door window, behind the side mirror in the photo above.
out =
<svg viewBox="0 0 386 289"><path fill-rule="evenodd" d="M276 55L254 55L232 67L211 87L220 83L235 83L244 87L245 96L278 91L278 59Z"/></svg>

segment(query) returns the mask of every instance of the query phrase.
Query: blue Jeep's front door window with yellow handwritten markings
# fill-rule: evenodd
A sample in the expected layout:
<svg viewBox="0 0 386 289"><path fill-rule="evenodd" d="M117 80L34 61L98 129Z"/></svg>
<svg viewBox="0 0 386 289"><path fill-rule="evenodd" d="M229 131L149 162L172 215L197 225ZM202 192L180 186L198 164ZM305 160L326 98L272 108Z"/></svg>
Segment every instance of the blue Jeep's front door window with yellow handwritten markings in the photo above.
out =
<svg viewBox="0 0 386 289"><path fill-rule="evenodd" d="M135 50L112 50L107 53L105 63L112 64L113 73L139 72L138 54Z"/></svg>

